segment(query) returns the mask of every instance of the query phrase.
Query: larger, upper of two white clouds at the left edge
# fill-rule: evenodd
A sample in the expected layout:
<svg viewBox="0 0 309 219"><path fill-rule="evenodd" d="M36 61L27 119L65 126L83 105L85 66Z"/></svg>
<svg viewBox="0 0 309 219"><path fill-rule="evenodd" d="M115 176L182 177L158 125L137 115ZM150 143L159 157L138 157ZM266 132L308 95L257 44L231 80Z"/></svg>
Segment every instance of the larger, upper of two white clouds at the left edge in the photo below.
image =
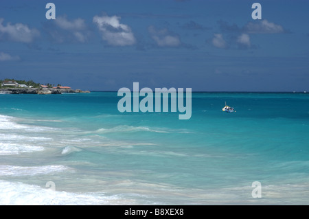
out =
<svg viewBox="0 0 309 219"><path fill-rule="evenodd" d="M0 19L0 39L4 38L9 41L21 42L21 43L32 43L34 38L40 35L40 32L35 28L30 29L23 23L16 23L11 25L8 23L6 26L3 24L3 19Z"/></svg>

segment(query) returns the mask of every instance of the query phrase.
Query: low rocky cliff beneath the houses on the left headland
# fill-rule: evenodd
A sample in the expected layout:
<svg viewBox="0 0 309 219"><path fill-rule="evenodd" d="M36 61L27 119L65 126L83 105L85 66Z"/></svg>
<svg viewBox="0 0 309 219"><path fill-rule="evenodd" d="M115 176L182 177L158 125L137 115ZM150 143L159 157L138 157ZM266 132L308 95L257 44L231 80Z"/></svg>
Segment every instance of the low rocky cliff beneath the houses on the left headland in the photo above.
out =
<svg viewBox="0 0 309 219"><path fill-rule="evenodd" d="M79 89L53 89L53 88L5 88L0 89L0 93L9 94L61 94L61 93L90 93L89 91L81 91Z"/></svg>

